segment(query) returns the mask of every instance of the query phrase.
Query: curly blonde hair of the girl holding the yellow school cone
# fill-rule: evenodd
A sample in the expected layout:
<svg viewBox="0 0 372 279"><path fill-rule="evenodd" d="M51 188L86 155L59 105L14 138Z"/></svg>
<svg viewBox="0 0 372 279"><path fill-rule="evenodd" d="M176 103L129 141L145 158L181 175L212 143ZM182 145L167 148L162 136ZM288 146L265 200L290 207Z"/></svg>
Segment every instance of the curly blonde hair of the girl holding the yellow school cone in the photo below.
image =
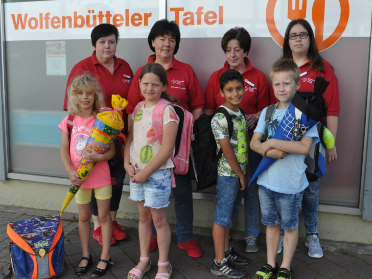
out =
<svg viewBox="0 0 372 279"><path fill-rule="evenodd" d="M67 112L72 115L80 115L77 95L81 92L83 86L87 88L87 91L95 94L95 102L93 104L92 112L96 117L97 113L100 112L100 108L105 106L105 99L101 86L95 77L89 74L75 77L68 87Z"/></svg>

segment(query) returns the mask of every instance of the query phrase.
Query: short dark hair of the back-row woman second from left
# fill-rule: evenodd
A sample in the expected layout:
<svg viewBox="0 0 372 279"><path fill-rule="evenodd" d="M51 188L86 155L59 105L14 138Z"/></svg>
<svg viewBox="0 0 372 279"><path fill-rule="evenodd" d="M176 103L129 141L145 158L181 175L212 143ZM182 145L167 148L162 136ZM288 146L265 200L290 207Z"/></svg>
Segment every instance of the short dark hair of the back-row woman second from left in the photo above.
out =
<svg viewBox="0 0 372 279"><path fill-rule="evenodd" d="M181 33L179 32L179 27L176 21L169 21L168 19L160 19L155 22L152 26L147 41L149 43L150 49L155 52L155 48L152 46L152 41L158 36L168 35L176 39L176 46L174 48L173 55L178 51L179 42L181 40Z"/></svg>

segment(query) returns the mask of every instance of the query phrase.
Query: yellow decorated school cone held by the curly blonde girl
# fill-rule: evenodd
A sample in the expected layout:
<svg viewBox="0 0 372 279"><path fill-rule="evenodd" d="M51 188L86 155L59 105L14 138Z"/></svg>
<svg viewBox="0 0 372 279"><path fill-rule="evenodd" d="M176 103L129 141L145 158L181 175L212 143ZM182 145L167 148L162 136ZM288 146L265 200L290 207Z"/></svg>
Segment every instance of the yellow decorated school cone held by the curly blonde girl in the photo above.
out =
<svg viewBox="0 0 372 279"><path fill-rule="evenodd" d="M106 152L110 143L124 128L123 112L121 110L123 110L127 104L127 100L121 98L120 95L112 95L111 105L113 109L105 107L101 108L102 112L97 113L95 124L91 128L85 148L94 149L101 154ZM89 162L85 160L83 155L76 172L79 174L81 179L85 180L95 165L96 162ZM62 209L59 214L60 216L62 216L66 206L75 197L79 189L80 186L74 186L71 184L63 202Z"/></svg>

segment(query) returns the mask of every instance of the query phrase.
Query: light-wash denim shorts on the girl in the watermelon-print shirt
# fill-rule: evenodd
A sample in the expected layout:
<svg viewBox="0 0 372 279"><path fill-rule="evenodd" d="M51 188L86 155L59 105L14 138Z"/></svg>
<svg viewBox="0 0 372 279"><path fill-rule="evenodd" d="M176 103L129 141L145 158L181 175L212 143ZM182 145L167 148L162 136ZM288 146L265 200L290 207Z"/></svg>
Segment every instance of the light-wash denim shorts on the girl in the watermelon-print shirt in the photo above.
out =
<svg viewBox="0 0 372 279"><path fill-rule="evenodd" d="M144 183L133 183L130 181L129 199L134 201L144 200L144 206L151 208L167 207L169 204L171 187L171 170L156 170Z"/></svg>

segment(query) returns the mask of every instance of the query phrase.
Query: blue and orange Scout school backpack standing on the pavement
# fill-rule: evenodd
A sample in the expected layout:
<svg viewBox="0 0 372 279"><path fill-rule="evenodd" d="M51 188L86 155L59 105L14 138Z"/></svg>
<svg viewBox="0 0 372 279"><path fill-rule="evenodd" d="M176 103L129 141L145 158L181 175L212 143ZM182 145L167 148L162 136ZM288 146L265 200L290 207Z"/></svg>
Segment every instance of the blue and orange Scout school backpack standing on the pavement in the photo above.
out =
<svg viewBox="0 0 372 279"><path fill-rule="evenodd" d="M62 275L64 237L60 217L39 217L8 223L10 264L16 279Z"/></svg>

